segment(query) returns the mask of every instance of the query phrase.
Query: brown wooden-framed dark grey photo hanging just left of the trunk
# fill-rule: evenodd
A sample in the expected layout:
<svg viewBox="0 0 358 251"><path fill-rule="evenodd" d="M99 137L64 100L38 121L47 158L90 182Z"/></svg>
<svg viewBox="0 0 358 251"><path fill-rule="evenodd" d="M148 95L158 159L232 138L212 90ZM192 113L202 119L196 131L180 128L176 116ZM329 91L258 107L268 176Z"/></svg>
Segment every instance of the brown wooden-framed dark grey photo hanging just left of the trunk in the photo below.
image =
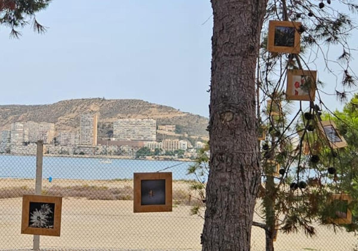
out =
<svg viewBox="0 0 358 251"><path fill-rule="evenodd" d="M171 212L173 208L171 172L134 173L135 213Z"/></svg>

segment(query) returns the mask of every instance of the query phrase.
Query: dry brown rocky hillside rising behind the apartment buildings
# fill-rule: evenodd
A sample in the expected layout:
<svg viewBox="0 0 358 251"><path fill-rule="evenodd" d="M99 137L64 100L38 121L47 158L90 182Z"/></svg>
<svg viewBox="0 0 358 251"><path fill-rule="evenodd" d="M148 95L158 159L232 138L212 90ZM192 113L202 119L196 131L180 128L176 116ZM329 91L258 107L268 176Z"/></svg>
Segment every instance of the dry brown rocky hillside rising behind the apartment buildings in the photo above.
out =
<svg viewBox="0 0 358 251"><path fill-rule="evenodd" d="M169 106L138 99L71 99L49 105L0 105L0 130L9 129L14 122L55 123L57 131L75 130L83 113L99 114L98 136L111 133L112 123L120 118L153 118L157 124L175 124L180 133L208 136L208 119L180 112Z"/></svg>

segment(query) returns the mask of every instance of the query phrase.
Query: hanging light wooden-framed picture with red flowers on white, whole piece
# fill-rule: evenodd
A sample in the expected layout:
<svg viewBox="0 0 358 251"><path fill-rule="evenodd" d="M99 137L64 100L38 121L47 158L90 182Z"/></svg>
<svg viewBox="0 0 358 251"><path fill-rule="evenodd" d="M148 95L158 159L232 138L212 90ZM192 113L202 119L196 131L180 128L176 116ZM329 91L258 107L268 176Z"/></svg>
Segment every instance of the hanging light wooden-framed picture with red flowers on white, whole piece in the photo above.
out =
<svg viewBox="0 0 358 251"><path fill-rule="evenodd" d="M317 71L287 70L287 100L314 101Z"/></svg>

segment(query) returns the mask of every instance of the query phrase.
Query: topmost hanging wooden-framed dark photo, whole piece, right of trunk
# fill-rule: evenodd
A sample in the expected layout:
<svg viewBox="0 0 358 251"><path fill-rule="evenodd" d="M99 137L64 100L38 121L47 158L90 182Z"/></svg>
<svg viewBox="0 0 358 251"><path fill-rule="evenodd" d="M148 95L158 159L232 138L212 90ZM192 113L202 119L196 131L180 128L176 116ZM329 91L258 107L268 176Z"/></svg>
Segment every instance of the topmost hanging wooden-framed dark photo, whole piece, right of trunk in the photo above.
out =
<svg viewBox="0 0 358 251"><path fill-rule="evenodd" d="M270 20L267 51L299 54L301 35L299 22Z"/></svg>

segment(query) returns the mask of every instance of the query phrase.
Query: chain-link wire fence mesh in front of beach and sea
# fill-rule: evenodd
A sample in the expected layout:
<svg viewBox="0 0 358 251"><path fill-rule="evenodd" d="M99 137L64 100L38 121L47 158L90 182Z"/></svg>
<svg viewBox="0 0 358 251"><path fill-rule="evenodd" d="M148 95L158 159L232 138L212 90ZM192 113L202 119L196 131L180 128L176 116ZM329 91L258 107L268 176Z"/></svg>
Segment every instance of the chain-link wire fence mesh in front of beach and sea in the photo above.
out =
<svg viewBox="0 0 358 251"><path fill-rule="evenodd" d="M40 236L42 250L201 250L203 219L191 215L202 203L190 189L192 162L86 156L43 157L42 194L62 196L61 236ZM133 173L173 174L173 212L134 213ZM35 155L0 155L0 249L33 247L21 234L22 195L34 194ZM51 181L51 182L50 182ZM256 218L255 218L256 217ZM254 219L260 221L257 216ZM276 251L357 251L357 237L338 229L316 227L316 236L279 231ZM265 250L265 233L253 227L251 250Z"/></svg>

